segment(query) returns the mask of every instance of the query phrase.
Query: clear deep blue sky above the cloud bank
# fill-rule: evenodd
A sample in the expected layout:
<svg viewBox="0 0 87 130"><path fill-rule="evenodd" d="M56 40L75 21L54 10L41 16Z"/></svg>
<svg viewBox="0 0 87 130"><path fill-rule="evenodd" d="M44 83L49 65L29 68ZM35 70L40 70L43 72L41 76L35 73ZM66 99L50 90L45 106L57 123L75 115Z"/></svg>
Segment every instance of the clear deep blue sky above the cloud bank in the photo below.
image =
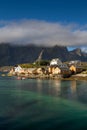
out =
<svg viewBox="0 0 87 130"><path fill-rule="evenodd" d="M0 0L0 19L39 19L86 24L86 0Z"/></svg>

